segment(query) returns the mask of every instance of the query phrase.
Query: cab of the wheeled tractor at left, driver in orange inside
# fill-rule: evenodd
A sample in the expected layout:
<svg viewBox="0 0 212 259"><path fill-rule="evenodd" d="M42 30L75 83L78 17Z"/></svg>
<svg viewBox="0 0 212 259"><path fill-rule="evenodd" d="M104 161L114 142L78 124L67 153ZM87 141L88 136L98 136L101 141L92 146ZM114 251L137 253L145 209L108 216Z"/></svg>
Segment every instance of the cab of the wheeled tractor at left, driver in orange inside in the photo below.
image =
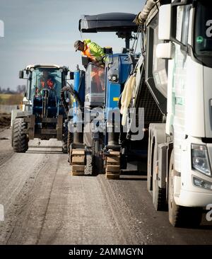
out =
<svg viewBox="0 0 212 259"><path fill-rule="evenodd" d="M26 100L23 103L31 104L30 110L33 115L57 117L64 114L64 108L59 103L61 88L66 84L68 69L37 65L28 66L25 71L28 74L28 87L25 94Z"/></svg>

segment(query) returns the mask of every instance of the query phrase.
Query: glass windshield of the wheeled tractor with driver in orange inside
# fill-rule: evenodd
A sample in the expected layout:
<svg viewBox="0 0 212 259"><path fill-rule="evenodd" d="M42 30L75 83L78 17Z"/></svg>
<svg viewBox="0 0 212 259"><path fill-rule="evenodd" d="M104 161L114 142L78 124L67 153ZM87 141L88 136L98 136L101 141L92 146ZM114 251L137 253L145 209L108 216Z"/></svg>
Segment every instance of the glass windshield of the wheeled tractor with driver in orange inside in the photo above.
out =
<svg viewBox="0 0 212 259"><path fill-rule="evenodd" d="M31 100L42 97L43 90L49 91L49 96L59 97L61 91L61 71L59 69L36 68L32 72Z"/></svg>

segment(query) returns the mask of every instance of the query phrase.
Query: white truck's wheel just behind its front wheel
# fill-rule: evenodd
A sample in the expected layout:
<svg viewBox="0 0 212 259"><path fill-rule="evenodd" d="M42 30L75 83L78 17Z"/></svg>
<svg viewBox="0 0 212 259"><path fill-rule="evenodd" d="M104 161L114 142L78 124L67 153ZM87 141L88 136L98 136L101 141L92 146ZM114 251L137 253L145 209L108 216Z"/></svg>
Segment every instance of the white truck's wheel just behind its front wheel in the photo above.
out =
<svg viewBox="0 0 212 259"><path fill-rule="evenodd" d="M166 190L165 188L160 188L158 186L157 178L157 160L158 160L158 149L154 146L153 154L153 205L156 211L167 211L167 202L166 202Z"/></svg>

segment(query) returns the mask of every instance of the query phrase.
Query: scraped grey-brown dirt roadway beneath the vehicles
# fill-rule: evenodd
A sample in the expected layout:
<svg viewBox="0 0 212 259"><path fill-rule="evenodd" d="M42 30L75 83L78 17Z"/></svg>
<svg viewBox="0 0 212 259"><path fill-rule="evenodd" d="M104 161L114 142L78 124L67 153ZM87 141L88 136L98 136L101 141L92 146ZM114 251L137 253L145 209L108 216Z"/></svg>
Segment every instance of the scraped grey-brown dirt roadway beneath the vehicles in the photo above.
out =
<svg viewBox="0 0 212 259"><path fill-rule="evenodd" d="M155 212L145 175L73 176L56 139L31 140L26 153L10 142L11 129L0 130L0 245L211 245L205 214L199 228L180 229Z"/></svg>

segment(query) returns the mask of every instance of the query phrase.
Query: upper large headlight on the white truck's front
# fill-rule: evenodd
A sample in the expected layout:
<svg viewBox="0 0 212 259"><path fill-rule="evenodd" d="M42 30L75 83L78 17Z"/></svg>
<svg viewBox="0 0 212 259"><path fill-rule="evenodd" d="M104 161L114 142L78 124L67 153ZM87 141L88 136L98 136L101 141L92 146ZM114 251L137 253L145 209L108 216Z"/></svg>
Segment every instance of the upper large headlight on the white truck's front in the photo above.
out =
<svg viewBox="0 0 212 259"><path fill-rule="evenodd" d="M192 168L200 173L204 173L204 175L211 176L211 167L206 146L192 144Z"/></svg>

